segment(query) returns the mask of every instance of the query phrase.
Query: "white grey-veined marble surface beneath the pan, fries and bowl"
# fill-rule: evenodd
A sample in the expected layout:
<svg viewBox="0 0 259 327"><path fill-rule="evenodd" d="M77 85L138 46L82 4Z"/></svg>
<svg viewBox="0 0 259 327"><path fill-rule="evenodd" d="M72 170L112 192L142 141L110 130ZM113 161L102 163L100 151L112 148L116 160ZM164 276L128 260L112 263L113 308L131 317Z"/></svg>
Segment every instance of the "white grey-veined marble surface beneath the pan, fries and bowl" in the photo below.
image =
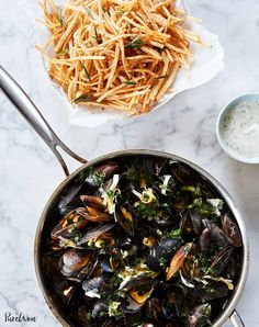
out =
<svg viewBox="0 0 259 327"><path fill-rule="evenodd" d="M155 114L95 129L69 126L44 72L33 12L36 0L0 0L0 63L24 87L72 149L91 159L125 148L151 148L193 160L230 192L250 237L251 264L238 311L259 326L259 167L228 158L215 137L216 116L233 97L259 91L259 2L189 0L194 15L219 35L225 69L213 81L173 99ZM72 162L71 168L77 164ZM38 216L63 171L45 144L0 93L0 326L58 326L38 290L33 241ZM4 324L4 313L37 316Z"/></svg>

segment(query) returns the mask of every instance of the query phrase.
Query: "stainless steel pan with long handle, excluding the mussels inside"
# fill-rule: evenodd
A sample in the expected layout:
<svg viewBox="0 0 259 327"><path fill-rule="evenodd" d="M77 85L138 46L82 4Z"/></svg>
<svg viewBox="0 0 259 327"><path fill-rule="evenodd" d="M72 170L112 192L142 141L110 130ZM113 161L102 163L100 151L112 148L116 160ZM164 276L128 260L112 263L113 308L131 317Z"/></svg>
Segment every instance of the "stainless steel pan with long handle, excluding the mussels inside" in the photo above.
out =
<svg viewBox="0 0 259 327"><path fill-rule="evenodd" d="M236 205L234 204L230 195L227 193L227 191L206 171L204 171L202 168L198 167L196 165L177 157L171 154L161 153L161 151L154 151L154 150L122 150L117 153L108 154L105 156L99 157L94 160L87 161L83 158L76 155L74 151L71 151L54 133L54 131L50 128L50 126L47 124L45 119L42 116L37 108L34 105L34 103L29 99L29 97L25 94L25 92L21 89L21 87L10 77L10 75L0 66L0 88L5 93L5 95L10 99L10 101L16 106L18 111L25 117L25 120L31 124L31 126L34 128L34 131L42 137L42 139L48 145L48 147L52 149L54 155L57 157L58 161L60 162L67 178L58 185L58 188L54 191L54 193L50 195L48 202L45 205L45 208L42 213L42 216L38 222L38 227L35 235L35 247L34 247L34 262L35 262L35 270L36 270L36 277L38 284L41 286L42 293L44 295L44 298L46 303L48 304L49 308L52 309L53 314L56 316L56 318L59 320L59 323L63 326L69 327L74 326L72 323L69 320L69 318L66 316L65 311L63 311L60 307L58 307L56 301L52 296L47 283L44 280L44 274L41 268L41 245L43 239L43 234L46 229L46 226L48 225L48 219L50 216L52 208L54 204L56 203L57 199L60 196L60 194L64 192L64 190L70 184L75 178L78 177L80 172L82 172L85 169L101 164L103 161L106 161L108 159L114 159L119 157L127 157L127 156L156 156L156 157L164 157L164 158L170 158L173 160L178 160L180 162L184 162L185 165L190 166L192 169L198 171L200 174L202 174L205 179L207 179L218 191L218 193L223 196L223 199L228 204L229 208L232 210L240 233L243 237L243 261L241 261L241 272L238 280L238 284L235 289L235 292L233 293L232 297L227 302L224 311L222 314L217 317L217 319L214 322L214 327L222 326L227 319L230 319L234 326L240 327L245 326L241 318L235 311L235 307L237 305L237 302L243 293L247 273L248 273L248 266L249 266L249 246L248 246L248 238L246 233L246 227L244 224L243 218L240 217L240 214L238 213ZM58 147L63 148L69 156L75 158L76 160L83 164L81 167L79 167L75 172L69 174L67 165L60 154L58 153Z"/></svg>

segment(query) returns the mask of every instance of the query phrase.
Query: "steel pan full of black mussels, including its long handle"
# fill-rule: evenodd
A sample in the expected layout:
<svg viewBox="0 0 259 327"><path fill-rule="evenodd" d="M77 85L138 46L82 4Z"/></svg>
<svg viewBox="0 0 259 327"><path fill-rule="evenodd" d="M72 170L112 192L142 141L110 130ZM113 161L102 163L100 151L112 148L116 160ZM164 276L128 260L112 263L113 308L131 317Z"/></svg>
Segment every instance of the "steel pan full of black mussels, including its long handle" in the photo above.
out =
<svg viewBox="0 0 259 327"><path fill-rule="evenodd" d="M68 174L41 216L35 268L63 326L202 327L235 311L248 272L244 222L207 172L174 155L123 150L87 162L0 69L0 86Z"/></svg>

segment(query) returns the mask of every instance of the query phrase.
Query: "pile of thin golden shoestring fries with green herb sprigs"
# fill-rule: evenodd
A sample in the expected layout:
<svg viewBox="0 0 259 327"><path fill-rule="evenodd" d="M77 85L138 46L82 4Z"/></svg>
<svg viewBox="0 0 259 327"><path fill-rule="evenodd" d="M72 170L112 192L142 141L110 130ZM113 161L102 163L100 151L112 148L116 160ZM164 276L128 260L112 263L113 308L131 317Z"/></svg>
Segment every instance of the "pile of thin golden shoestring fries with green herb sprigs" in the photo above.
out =
<svg viewBox="0 0 259 327"><path fill-rule="evenodd" d="M70 0L63 8L45 0L41 5L50 37L37 48L49 76L71 103L90 110L147 113L171 90L179 69L190 69L190 42L202 44L187 27L192 18L172 0Z"/></svg>

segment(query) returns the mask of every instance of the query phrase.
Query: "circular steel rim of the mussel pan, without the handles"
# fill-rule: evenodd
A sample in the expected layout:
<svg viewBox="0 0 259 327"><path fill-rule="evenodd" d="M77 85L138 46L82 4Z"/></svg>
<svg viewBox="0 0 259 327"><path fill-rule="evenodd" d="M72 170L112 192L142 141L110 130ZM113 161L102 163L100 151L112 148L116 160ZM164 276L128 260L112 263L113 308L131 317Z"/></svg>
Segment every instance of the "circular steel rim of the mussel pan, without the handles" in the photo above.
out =
<svg viewBox="0 0 259 327"><path fill-rule="evenodd" d="M159 150L150 150L150 149L126 149L126 150L119 150L109 153L106 155L102 155L93 160L88 161L87 164L80 166L77 168L71 174L69 174L65 180L63 180L59 185L56 188L56 190L52 193L48 201L46 202L44 210L41 214L40 221L37 223L35 239L34 239L34 267L35 267L35 273L37 283L41 287L41 292L44 296L45 302L47 303L48 307L50 308L53 315L57 318L57 320L65 327L70 327L68 322L60 315L58 309L55 307L54 300L48 295L47 287L43 282L42 271L40 269L41 267L41 259L40 259L40 248L41 248L41 236L44 228L44 223L47 217L47 213L49 211L49 207L52 206L52 203L57 199L59 193L64 190L64 188L69 183L78 173L80 173L82 170L85 170L87 167L100 164L104 160L114 159L116 157L122 156L132 156L132 155L147 155L147 156L157 156L157 157L164 157L177 160L179 162L183 162L191 168L193 168L196 172L205 177L209 181L213 183L213 185L216 188L216 190L219 192L219 194L223 196L223 199L226 201L227 205L232 210L232 213L234 214L238 227L240 229L241 238L243 238L243 262L241 262L241 271L239 275L239 281L237 283L237 286L235 289L235 292L232 294L232 296L227 301L227 305L223 309L223 312L218 315L213 327L219 327L229 318L233 314L233 312L236 308L236 305L241 296L241 293L244 291L248 269L249 269L249 241L248 241L248 235L245 226L245 222L241 218L236 204L234 203L232 196L226 191L226 189L209 172L206 172L203 168L199 167L198 165L193 164L192 161L182 158L180 156L166 153L166 151L159 151Z"/></svg>

